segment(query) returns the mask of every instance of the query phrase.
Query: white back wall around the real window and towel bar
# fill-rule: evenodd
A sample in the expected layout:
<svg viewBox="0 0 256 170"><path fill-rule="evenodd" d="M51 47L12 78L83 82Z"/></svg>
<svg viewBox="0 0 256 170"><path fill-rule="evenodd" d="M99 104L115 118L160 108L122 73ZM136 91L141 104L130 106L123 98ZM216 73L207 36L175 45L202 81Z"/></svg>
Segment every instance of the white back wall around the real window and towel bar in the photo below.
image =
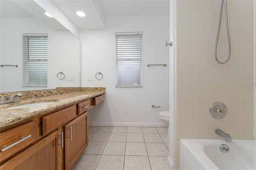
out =
<svg viewBox="0 0 256 170"><path fill-rule="evenodd" d="M115 87L115 32L143 32L143 87ZM89 125L164 126L159 112L169 109L169 16L110 16L106 30L82 31L81 85L106 87L106 100L89 112ZM147 64L168 64L167 67ZM87 81L102 72L103 79ZM152 108L151 105L161 106Z"/></svg>

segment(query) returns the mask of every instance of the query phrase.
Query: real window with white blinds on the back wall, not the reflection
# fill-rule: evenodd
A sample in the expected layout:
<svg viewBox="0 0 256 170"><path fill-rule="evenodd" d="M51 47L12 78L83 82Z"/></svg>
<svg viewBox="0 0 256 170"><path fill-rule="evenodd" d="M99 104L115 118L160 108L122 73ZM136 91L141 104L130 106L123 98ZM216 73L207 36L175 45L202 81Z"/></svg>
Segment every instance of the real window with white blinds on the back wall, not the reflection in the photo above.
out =
<svg viewBox="0 0 256 170"><path fill-rule="evenodd" d="M142 87L142 32L116 33L116 87Z"/></svg>

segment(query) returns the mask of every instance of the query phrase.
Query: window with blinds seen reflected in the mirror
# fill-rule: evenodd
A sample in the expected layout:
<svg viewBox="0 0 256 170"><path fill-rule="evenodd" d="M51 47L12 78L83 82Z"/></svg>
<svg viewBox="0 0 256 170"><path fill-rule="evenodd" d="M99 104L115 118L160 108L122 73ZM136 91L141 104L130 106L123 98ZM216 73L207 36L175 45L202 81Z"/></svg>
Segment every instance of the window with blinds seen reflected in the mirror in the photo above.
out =
<svg viewBox="0 0 256 170"><path fill-rule="evenodd" d="M22 35L22 86L47 87L48 34Z"/></svg>

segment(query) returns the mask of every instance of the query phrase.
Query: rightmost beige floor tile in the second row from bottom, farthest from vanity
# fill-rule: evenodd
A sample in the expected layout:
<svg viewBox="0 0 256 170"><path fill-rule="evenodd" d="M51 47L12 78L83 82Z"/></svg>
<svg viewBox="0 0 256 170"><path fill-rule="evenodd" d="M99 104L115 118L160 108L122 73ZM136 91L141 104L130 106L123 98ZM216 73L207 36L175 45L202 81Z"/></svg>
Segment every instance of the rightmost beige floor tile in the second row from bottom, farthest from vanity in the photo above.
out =
<svg viewBox="0 0 256 170"><path fill-rule="evenodd" d="M169 151L164 143L146 143L148 156L169 156Z"/></svg>

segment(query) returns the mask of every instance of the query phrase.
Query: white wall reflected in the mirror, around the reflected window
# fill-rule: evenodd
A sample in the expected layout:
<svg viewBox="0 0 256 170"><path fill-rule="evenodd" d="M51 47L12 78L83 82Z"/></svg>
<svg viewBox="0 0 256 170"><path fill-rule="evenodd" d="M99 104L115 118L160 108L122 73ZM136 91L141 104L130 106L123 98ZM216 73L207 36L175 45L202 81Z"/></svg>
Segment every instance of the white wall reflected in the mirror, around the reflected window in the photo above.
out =
<svg viewBox="0 0 256 170"><path fill-rule="evenodd" d="M79 40L68 31L56 31L37 18L1 18L0 92L38 90L46 88L22 87L22 34L48 33L48 87L80 86ZM63 71L65 79L56 75ZM67 76L75 76L75 81L67 81Z"/></svg>

